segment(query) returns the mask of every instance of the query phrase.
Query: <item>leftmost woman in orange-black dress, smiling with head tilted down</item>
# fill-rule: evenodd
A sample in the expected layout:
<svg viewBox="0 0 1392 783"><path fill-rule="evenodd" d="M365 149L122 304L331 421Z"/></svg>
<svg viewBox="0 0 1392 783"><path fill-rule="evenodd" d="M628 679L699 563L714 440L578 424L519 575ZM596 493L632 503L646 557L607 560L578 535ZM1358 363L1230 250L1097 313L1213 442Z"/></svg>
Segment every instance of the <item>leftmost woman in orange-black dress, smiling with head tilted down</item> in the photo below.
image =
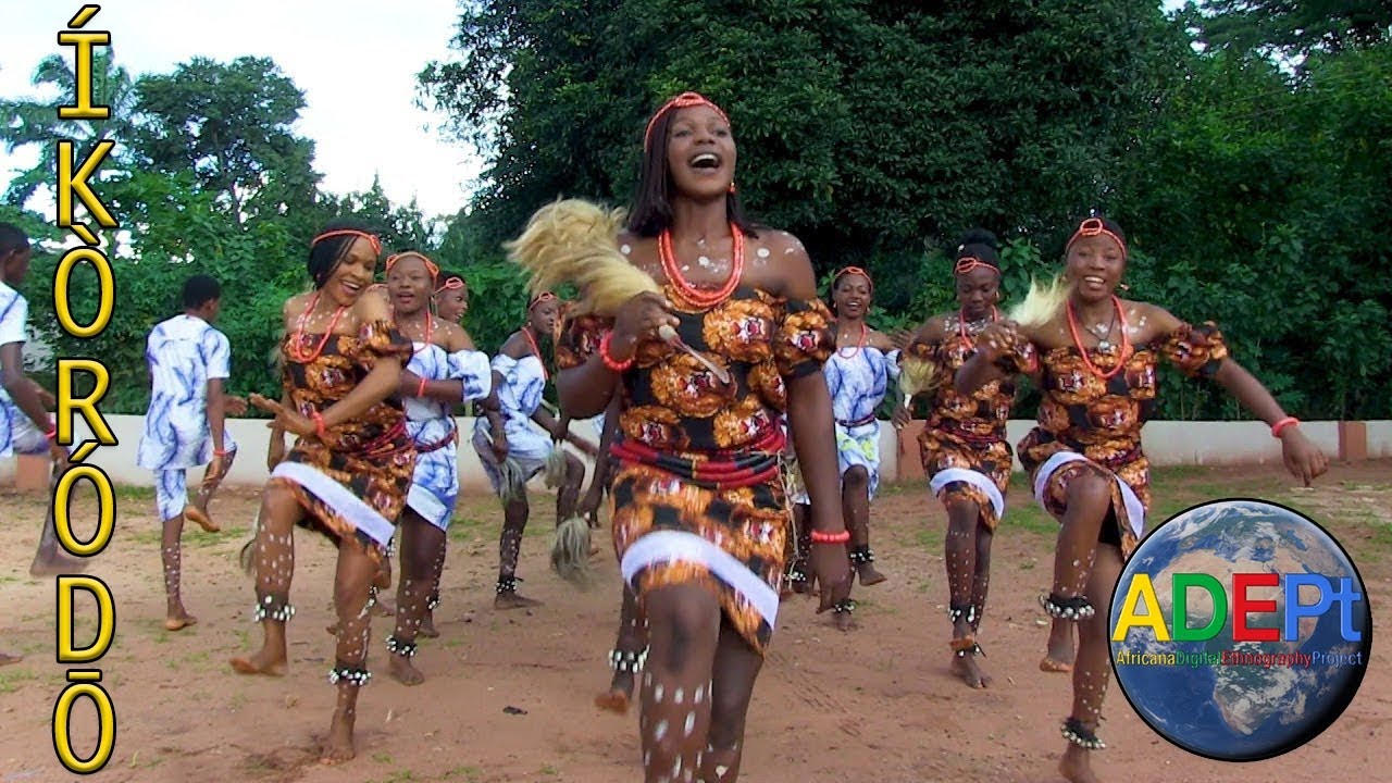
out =
<svg viewBox="0 0 1392 783"><path fill-rule="evenodd" d="M338 548L334 607L338 642L330 683L338 702L324 743L326 763L354 757L358 690L370 679L369 589L377 578L395 520L405 506L416 449L397 390L411 343L391 323L381 297L362 295L381 256L376 234L330 224L310 242L315 290L284 308L281 401L252 403L276 415L262 493L260 527L252 546L256 610L264 641L231 665L244 674L284 674L285 623L294 614L292 531L303 525ZM285 453L283 432L299 436Z"/></svg>

